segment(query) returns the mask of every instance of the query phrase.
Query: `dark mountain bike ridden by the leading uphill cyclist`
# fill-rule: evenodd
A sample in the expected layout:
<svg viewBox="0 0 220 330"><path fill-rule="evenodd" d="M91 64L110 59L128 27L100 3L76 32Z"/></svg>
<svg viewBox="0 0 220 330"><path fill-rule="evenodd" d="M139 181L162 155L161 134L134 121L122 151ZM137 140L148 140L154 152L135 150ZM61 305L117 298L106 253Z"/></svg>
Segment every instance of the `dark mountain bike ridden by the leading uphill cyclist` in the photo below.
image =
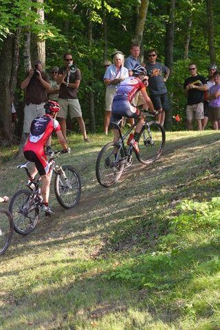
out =
<svg viewBox="0 0 220 330"><path fill-rule="evenodd" d="M165 144L165 131L164 127L158 122L148 121L147 117L154 117L153 113L144 111L144 115L145 121L137 141L139 152L135 151L135 155L139 162L148 165L159 159L162 154ZM133 147L131 145L125 146L124 140L129 137L137 121L124 135L122 135L120 129L121 122L122 120L111 123L115 129L118 129L119 141L105 144L96 160L96 177L104 187L115 184L120 179L124 168L131 166L132 163Z"/></svg>

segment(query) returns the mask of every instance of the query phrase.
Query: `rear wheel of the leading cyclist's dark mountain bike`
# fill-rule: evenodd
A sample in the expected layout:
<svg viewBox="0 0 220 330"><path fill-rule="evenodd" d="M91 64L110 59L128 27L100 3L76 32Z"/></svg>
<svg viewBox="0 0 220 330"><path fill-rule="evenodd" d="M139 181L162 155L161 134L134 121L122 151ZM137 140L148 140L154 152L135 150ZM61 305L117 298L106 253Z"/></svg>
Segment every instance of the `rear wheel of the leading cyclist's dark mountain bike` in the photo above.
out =
<svg viewBox="0 0 220 330"><path fill-rule="evenodd" d="M124 170L122 146L109 142L103 146L96 160L96 177L103 187L109 187L120 179Z"/></svg>

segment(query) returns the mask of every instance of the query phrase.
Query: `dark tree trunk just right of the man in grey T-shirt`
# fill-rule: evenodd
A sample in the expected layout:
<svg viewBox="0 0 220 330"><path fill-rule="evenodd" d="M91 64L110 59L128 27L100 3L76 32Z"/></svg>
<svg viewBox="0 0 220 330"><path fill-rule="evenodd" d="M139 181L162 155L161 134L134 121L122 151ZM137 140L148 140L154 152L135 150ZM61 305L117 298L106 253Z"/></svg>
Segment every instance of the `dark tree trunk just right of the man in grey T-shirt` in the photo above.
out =
<svg viewBox="0 0 220 330"><path fill-rule="evenodd" d="M165 65L170 69L170 76L173 72L173 44L174 44L174 29L175 29L175 0L170 0L169 19L166 23L166 37L165 37ZM166 113L164 127L171 130L173 125L173 109L170 95L170 110Z"/></svg>

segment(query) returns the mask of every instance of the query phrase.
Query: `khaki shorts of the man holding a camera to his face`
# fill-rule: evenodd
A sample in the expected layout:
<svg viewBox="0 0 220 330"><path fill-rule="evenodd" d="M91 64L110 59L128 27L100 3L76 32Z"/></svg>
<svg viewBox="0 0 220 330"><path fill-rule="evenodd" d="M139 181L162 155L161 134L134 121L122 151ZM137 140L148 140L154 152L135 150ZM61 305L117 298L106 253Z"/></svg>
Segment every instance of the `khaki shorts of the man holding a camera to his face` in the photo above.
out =
<svg viewBox="0 0 220 330"><path fill-rule="evenodd" d="M41 115L45 115L44 104L45 102L42 102L41 104L25 104L23 133L30 133L30 125L32 124L32 121L37 117L41 117Z"/></svg>

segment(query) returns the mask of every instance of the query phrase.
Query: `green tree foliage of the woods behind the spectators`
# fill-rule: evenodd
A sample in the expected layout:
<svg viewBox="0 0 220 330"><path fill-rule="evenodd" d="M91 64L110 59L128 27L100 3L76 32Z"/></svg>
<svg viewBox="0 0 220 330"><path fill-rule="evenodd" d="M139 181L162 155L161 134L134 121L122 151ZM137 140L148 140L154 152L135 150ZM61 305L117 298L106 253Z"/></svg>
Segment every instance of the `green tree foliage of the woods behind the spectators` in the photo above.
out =
<svg viewBox="0 0 220 330"><path fill-rule="evenodd" d="M220 8L218 0L212 0L214 46L220 42ZM72 52L76 65L80 68L83 80L78 97L83 109L85 122L89 127L89 92L94 93L96 129L102 126L104 115L104 67L102 59L111 59L113 50L121 50L129 55L129 45L138 22L140 0L45 0L37 3L31 0L0 0L0 47L3 40L21 28L30 26L32 34L38 34L46 40L46 69L54 65L63 65L63 54ZM179 0L174 9L175 33L173 43L173 76L168 80L168 90L173 94L173 112L184 117L186 99L182 85L188 76L189 61L197 63L199 73L207 75L209 58L209 20L207 0ZM39 6L44 7L45 21L41 22L36 13ZM164 62L166 49L166 27L169 21L169 0L148 1L142 48L154 47L159 52L159 61ZM188 45L188 59L184 60L186 39L188 38L188 20L192 19ZM92 42L88 42L89 23L92 22ZM104 28L105 27L105 28ZM20 42L21 54L23 38ZM185 56L187 57L187 56ZM219 54L216 54L219 63ZM92 62L92 66L91 66ZM89 64L90 63L90 64ZM19 61L19 82L23 79L23 61ZM21 96L19 88L17 96ZM20 112L22 113L22 107Z"/></svg>

